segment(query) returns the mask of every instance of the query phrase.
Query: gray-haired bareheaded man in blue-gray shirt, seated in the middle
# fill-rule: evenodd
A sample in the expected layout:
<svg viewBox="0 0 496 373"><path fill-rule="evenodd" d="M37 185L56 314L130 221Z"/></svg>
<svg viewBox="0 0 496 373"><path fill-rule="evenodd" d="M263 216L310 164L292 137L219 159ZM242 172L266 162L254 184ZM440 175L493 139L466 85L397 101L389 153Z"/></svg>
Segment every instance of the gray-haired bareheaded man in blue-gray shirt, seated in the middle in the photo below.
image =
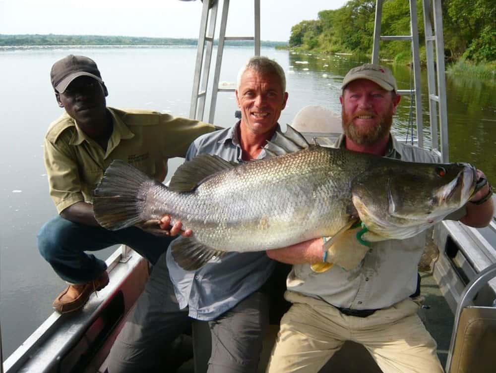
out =
<svg viewBox="0 0 496 373"><path fill-rule="evenodd" d="M277 120L287 99L281 66L266 57L250 58L238 75L236 100L241 120L234 127L196 139L186 160L200 154L233 162L263 158L262 147L280 129ZM263 289L273 288L267 283L275 266L265 252L232 252L186 271L168 250L153 268L111 350L109 373L155 372L167 346L186 330L191 319L209 321L209 373L256 372L269 324L270 299ZM281 278L284 281L285 273ZM282 290L279 296L284 302ZM277 294L270 296L274 297Z"/></svg>

